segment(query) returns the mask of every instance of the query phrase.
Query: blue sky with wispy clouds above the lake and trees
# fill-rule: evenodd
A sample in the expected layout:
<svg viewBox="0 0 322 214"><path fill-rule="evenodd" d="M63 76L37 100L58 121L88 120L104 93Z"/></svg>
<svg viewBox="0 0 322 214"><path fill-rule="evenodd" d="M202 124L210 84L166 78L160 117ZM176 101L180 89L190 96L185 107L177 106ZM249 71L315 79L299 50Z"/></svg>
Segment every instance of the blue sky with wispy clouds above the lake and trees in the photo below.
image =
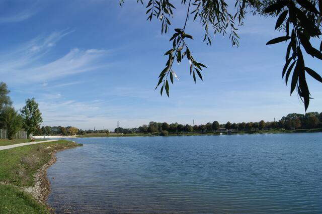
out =
<svg viewBox="0 0 322 214"><path fill-rule="evenodd" d="M184 13L178 7L173 27L182 27ZM265 45L281 35L274 27L275 19L248 16L235 48L228 36L219 35L207 46L202 27L190 21L190 50L208 68L204 81L194 84L189 62L176 65L179 81L170 86L168 98L154 87L172 34L161 35L160 23L146 21L136 1L123 7L117 0L2 1L1 81L17 109L35 97L42 125L49 126L114 130L117 121L131 128L150 121L279 120L304 113L304 106L296 93L289 95L281 77L286 45ZM320 73L320 61L306 57L306 65ZM321 112L322 85L307 81L314 97L308 111Z"/></svg>

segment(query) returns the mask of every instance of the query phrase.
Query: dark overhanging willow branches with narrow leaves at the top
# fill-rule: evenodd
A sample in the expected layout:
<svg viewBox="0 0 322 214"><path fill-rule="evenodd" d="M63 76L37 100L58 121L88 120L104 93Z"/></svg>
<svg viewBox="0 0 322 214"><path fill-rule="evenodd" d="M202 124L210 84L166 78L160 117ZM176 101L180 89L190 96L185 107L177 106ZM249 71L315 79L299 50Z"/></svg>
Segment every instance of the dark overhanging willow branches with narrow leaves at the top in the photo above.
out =
<svg viewBox="0 0 322 214"><path fill-rule="evenodd" d="M310 40L319 39L321 35L322 0L235 0L234 4L230 5L227 0L149 0L146 3L137 0L137 3L146 8L147 20L155 18L160 21L162 34L171 31L171 20L175 18L175 2L186 7L186 18L181 27L174 28L174 34L170 37L172 47L165 53L168 60L158 76L159 81L155 87L160 87L161 95L165 90L169 96L169 80L173 84L174 78L177 78L173 70L174 61L180 63L186 58L194 81L196 82L196 76L202 80L202 69L206 66L193 57L186 43L187 40L193 39L193 36L186 32L189 19L202 25L203 41L207 45L211 45L212 35L228 34L232 46L238 46L238 27L243 26L246 14L252 14L277 17L275 30L284 31L285 36L272 39L267 45L288 42L282 77L285 77L286 85L290 83L291 94L296 89L304 103L305 111L307 110L311 97L306 75L319 82L322 82L322 77L305 65L303 55L322 60L322 42L318 48L314 48ZM120 0L120 5L123 3L124 0Z"/></svg>

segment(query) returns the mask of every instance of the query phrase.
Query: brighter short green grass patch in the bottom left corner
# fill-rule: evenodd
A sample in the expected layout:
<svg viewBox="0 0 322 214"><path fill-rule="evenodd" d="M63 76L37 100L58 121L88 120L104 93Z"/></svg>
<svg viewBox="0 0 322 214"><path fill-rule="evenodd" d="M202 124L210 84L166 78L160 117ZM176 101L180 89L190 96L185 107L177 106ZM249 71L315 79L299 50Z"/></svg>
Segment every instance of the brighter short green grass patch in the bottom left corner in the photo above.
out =
<svg viewBox="0 0 322 214"><path fill-rule="evenodd" d="M0 213L48 213L48 210L19 188L0 185Z"/></svg>

